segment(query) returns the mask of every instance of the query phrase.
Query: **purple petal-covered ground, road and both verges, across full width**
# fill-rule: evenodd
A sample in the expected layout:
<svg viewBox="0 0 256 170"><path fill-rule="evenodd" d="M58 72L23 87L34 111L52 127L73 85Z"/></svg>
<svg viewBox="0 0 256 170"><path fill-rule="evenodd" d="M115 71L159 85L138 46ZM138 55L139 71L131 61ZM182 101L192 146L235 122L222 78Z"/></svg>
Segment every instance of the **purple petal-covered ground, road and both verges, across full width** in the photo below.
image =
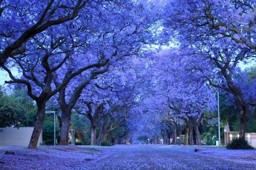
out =
<svg viewBox="0 0 256 170"><path fill-rule="evenodd" d="M199 152L195 152L195 148ZM256 169L256 149L205 146L0 146L0 169Z"/></svg>

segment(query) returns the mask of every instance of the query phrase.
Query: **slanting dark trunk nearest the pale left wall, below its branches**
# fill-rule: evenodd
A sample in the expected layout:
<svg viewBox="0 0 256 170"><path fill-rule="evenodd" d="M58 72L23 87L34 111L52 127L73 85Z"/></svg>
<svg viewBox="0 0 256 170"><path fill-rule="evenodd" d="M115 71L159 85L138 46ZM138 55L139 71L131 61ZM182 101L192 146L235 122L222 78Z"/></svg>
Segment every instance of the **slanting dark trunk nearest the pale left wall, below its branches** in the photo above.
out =
<svg viewBox="0 0 256 170"><path fill-rule="evenodd" d="M45 104L46 101L37 102L37 119L35 120L34 130L28 145L28 148L30 149L37 148L38 139L42 131L42 125L44 125Z"/></svg>

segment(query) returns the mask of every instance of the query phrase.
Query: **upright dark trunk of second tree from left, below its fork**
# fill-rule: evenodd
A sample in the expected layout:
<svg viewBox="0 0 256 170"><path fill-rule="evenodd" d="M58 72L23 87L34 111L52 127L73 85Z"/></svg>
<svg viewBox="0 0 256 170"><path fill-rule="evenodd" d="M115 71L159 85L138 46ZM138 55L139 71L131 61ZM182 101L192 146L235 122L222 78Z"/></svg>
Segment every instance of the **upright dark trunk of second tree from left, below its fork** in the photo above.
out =
<svg viewBox="0 0 256 170"><path fill-rule="evenodd" d="M61 136L60 136L60 144L68 145L68 131L70 128L70 116L71 110L66 109L65 111L61 111Z"/></svg>

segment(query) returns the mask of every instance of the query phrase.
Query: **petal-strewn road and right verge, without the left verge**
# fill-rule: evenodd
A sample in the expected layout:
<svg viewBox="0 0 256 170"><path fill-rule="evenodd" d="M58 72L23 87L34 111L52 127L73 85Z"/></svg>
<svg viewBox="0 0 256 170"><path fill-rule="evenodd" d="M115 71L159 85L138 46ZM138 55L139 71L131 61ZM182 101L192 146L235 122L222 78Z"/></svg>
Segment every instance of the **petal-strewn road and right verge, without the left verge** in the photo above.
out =
<svg viewBox="0 0 256 170"><path fill-rule="evenodd" d="M195 148L198 146L116 146L108 156L76 169L256 169L255 151L246 156L250 152L232 153L225 148L220 153L215 148L199 148L195 152ZM224 149L229 154L222 156Z"/></svg>

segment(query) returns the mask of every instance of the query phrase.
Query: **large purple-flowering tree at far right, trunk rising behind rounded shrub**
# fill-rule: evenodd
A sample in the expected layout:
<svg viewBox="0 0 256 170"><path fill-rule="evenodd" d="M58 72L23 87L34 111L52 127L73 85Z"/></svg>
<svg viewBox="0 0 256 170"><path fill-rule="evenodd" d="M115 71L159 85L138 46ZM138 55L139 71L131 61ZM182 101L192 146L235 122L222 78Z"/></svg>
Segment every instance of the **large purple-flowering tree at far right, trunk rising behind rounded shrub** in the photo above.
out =
<svg viewBox="0 0 256 170"><path fill-rule="evenodd" d="M208 62L209 69L195 69L204 72L209 84L234 96L240 111L240 138L245 138L247 112L255 101L248 100L244 82L235 77L238 63L256 55L255 2L172 1L166 7L165 33L182 49L188 48L187 54Z"/></svg>

